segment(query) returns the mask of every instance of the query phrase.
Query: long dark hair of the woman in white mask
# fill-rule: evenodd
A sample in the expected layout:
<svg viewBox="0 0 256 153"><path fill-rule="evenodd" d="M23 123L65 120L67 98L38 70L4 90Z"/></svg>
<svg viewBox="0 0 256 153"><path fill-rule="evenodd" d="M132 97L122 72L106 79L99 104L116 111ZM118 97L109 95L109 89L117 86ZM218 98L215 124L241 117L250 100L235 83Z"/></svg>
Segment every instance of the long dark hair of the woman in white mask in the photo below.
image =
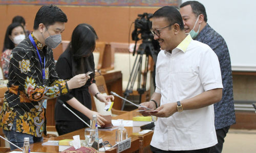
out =
<svg viewBox="0 0 256 153"><path fill-rule="evenodd" d="M6 50L6 49L13 49L15 47L15 44L12 42L12 40L10 39L9 35L12 35L12 30L16 27L22 27L23 31L24 31L24 34L25 33L25 30L24 30L24 27L22 26L22 24L20 23L17 23L17 22L14 22L14 23L11 23L7 30L6 30L6 34L5 34L5 40L4 40L4 47L3 47L3 52Z"/></svg>

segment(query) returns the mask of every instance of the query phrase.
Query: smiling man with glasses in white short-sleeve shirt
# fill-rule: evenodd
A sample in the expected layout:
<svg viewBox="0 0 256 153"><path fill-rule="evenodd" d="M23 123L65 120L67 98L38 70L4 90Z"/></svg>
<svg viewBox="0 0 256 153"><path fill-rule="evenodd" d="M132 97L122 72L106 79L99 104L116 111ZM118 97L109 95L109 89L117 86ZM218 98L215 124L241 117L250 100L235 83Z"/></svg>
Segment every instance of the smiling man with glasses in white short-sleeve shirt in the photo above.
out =
<svg viewBox="0 0 256 153"><path fill-rule="evenodd" d="M222 97L217 55L184 31L179 11L170 6L157 10L152 33L161 52L156 64L156 90L141 105L158 116L151 141L153 152L209 152L217 144L214 103ZM144 108L139 108L143 110Z"/></svg>

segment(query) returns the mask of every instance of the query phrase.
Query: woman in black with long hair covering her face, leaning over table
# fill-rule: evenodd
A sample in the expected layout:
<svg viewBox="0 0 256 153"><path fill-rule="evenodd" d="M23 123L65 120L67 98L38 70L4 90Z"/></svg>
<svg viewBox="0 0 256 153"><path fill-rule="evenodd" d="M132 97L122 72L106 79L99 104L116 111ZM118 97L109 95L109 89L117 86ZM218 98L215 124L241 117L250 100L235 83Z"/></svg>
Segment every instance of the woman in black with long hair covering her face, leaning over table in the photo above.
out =
<svg viewBox="0 0 256 153"><path fill-rule="evenodd" d="M92 119L93 114L96 114L98 124L104 125L106 120L102 115L91 111L92 101L90 93L105 103L110 101L111 98L114 100L114 96L102 95L95 84L93 50L95 49L95 41L97 38L96 32L89 24L82 23L77 25L74 29L67 49L60 55L56 63L58 76L61 79L66 80L72 78L76 74L86 73L88 71L93 71L93 73L90 74L90 79L86 85L73 89L69 94L58 97L58 100L62 100L65 104L68 104L67 106L87 123L90 124L90 119ZM73 107L73 101L79 101L81 106L77 108ZM86 127L81 120L69 110L62 107L60 103L56 103L55 105L55 123L59 135Z"/></svg>

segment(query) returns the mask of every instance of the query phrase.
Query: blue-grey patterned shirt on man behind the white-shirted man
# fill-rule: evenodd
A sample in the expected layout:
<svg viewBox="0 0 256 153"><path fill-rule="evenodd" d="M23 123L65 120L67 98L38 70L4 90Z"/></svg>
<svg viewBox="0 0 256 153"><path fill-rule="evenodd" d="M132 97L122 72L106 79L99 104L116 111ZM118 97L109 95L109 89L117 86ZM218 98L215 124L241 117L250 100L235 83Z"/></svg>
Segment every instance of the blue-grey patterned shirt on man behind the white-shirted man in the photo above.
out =
<svg viewBox="0 0 256 153"><path fill-rule="evenodd" d="M228 47L223 37L206 24L195 40L205 43L217 54L222 74L222 99L214 104L216 130L236 123L233 103L233 82Z"/></svg>

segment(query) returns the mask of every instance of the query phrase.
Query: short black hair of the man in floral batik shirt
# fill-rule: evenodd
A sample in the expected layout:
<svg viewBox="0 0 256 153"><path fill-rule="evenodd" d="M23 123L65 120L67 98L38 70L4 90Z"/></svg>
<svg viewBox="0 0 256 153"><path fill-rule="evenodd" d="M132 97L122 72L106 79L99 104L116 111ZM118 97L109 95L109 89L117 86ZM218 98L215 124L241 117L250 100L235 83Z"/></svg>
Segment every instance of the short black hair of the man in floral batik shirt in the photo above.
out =
<svg viewBox="0 0 256 153"><path fill-rule="evenodd" d="M55 5L42 6L35 16L34 30L37 30L40 23L43 23L46 27L53 25L55 22L67 22L67 16L61 9Z"/></svg>

